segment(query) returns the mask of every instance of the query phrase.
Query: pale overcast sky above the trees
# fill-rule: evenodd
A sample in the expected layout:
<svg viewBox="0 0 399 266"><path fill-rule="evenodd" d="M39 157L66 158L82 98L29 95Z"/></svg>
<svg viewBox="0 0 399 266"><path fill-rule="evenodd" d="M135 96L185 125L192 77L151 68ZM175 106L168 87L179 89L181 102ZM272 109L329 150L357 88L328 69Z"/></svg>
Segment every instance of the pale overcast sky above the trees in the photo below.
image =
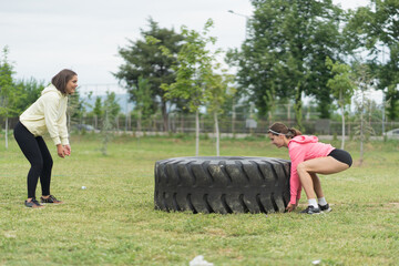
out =
<svg viewBox="0 0 399 266"><path fill-rule="evenodd" d="M345 9L367 2L334 0ZM82 88L103 90L117 83L119 48L141 39L149 18L177 32L201 30L212 18L216 47L227 50L241 47L252 13L249 0L0 0L0 49L9 48L17 79L47 83L66 68Z"/></svg>

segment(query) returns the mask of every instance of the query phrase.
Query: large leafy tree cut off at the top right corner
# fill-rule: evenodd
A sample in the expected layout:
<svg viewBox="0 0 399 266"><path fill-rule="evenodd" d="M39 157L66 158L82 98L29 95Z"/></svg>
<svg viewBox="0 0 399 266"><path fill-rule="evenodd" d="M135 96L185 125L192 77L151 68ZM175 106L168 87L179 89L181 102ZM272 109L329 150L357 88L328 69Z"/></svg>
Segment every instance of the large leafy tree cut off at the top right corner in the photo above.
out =
<svg viewBox="0 0 399 266"><path fill-rule="evenodd" d="M367 7L360 7L350 13L345 29L351 50L366 49L369 52L367 63L379 80L378 89L387 90L389 99L388 116L399 117L399 1L371 0ZM387 53L386 53L387 52ZM386 60L388 55L388 60Z"/></svg>

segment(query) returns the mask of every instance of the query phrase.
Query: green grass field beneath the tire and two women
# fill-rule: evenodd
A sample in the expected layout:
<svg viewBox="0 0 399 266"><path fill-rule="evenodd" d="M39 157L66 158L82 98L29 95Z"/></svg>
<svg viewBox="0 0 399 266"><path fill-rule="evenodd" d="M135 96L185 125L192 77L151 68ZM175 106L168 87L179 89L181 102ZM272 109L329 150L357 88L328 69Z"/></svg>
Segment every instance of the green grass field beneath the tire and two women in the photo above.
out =
<svg viewBox="0 0 399 266"><path fill-rule="evenodd" d="M119 136L103 156L96 137L72 136L64 160L47 141L65 204L43 209L24 207L28 161L0 139L0 265L399 265L399 142L367 143L361 167L321 176L331 213L266 216L154 211L155 161L193 156L194 140ZM356 163L359 144L347 150ZM214 155L214 141L200 152ZM223 140L221 155L288 158L266 139Z"/></svg>

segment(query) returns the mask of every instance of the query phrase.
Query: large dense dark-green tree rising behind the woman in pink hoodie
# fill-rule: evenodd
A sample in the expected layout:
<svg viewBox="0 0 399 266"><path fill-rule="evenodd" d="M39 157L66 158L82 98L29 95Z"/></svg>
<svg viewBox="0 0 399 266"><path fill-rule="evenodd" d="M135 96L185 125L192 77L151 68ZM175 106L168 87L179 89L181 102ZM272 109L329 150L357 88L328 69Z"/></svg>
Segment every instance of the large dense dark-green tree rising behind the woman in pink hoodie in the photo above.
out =
<svg viewBox="0 0 399 266"><path fill-rule="evenodd" d="M249 90L249 100L260 114L273 110L278 99L295 99L296 123L301 125L301 98L314 95L321 114L331 103L326 84L330 74L327 57L340 51L342 10L331 0L253 0L249 38L238 57L238 83ZM234 58L234 57L233 57Z"/></svg>

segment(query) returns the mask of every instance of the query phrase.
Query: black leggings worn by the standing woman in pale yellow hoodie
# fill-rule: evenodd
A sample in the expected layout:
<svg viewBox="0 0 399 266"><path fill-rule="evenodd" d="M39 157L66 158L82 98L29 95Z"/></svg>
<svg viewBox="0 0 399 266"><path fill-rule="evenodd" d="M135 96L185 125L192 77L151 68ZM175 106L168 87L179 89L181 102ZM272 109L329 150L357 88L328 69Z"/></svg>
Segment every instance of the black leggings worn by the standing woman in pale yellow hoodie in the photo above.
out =
<svg viewBox="0 0 399 266"><path fill-rule="evenodd" d="M28 173L28 197L35 197L39 176L42 195L50 195L53 161L43 137L35 137L21 122L17 123L13 133L18 145L31 164Z"/></svg>

